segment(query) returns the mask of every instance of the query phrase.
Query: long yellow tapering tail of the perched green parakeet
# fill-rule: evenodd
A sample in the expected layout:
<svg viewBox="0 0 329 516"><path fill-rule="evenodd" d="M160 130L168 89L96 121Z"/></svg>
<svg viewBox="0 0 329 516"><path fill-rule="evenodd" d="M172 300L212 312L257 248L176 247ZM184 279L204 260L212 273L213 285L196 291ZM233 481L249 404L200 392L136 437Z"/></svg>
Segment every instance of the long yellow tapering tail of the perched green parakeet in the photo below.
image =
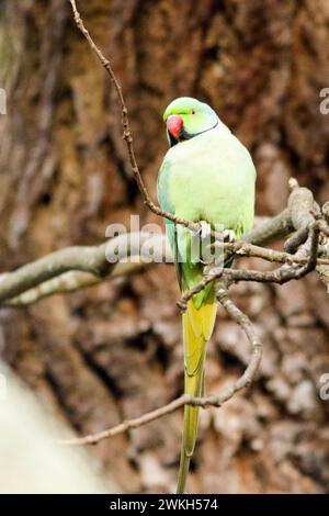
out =
<svg viewBox="0 0 329 516"><path fill-rule="evenodd" d="M182 316L185 393L192 396L203 395L206 344L214 329L216 311L214 293L209 292L207 300L198 309L195 307L193 300L189 301L186 312ZM185 405L177 493L183 493L185 490L190 460L196 441L197 420L198 407Z"/></svg>

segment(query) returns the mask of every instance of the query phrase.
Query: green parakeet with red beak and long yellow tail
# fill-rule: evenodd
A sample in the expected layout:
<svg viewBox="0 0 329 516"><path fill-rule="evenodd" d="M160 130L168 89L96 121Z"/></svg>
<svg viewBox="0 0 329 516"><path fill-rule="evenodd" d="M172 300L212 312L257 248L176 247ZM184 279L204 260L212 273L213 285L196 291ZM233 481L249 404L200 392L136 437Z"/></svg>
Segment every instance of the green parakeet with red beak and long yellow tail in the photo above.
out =
<svg viewBox="0 0 329 516"><path fill-rule="evenodd" d="M189 221L222 225L237 238L252 227L256 169L246 147L231 134L215 111L196 99L173 100L164 111L170 148L158 177L162 210ZM191 259L191 232L166 220L182 292L203 276L202 261ZM185 257L185 258L184 258ZM185 392L203 394L204 360L217 303L209 284L188 303L182 316ZM183 493L197 431L198 408L185 406L178 493Z"/></svg>

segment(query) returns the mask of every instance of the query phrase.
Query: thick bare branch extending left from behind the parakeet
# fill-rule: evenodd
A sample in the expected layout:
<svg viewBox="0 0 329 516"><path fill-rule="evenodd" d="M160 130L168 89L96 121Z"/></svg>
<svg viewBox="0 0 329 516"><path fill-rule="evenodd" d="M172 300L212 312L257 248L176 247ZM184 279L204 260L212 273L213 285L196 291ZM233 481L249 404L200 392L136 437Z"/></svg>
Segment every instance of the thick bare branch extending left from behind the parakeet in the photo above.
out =
<svg viewBox="0 0 329 516"><path fill-rule="evenodd" d="M166 255L170 259L167 239L162 235L150 233L123 234L100 246L67 247L15 271L1 274L0 304L29 304L46 295L71 292L105 279L139 271L150 261L148 256L140 254L146 243L148 247L154 246L160 251L160 256L155 256L155 261L161 261ZM121 247L127 251L127 256L122 259L118 254ZM76 271L76 274L67 274L69 271ZM54 281L48 282L49 280ZM38 285L43 287L37 291L33 290ZM19 298L24 292L24 299Z"/></svg>

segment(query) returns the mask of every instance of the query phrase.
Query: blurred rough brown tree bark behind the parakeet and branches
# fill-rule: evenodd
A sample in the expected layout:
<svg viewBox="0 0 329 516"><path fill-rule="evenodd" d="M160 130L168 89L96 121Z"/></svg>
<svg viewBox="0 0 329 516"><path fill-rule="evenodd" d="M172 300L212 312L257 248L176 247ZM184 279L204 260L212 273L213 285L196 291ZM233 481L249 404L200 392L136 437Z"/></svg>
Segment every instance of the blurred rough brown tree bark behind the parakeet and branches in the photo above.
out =
<svg viewBox="0 0 329 516"><path fill-rule="evenodd" d="M143 177L156 195L170 100L208 102L250 149L257 213L286 204L295 177L329 199L327 0L93 0L78 8L111 59L129 109ZM140 201L116 97L78 32L68 0L0 2L0 271L70 245L98 245ZM246 265L246 262L245 262ZM252 263L248 261L248 266ZM259 262L257 267L265 267ZM183 386L173 268L0 311L0 356L78 434L158 407ZM316 274L284 287L240 284L235 299L264 343L259 379L202 411L190 492L329 492L328 294ZM220 312L208 347L208 392L240 374L247 343ZM1 410L1 408L0 408ZM182 413L90 452L126 492L174 489ZM60 437L60 436L59 436Z"/></svg>

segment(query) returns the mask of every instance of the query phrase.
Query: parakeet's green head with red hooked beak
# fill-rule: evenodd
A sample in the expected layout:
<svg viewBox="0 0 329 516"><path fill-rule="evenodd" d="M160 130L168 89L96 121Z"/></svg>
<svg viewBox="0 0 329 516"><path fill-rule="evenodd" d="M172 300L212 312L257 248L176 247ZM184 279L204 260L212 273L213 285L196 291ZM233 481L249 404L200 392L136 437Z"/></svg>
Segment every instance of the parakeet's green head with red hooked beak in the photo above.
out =
<svg viewBox="0 0 329 516"><path fill-rule="evenodd" d="M170 102L163 113L163 121L171 147L214 128L219 122L208 104L192 97L180 97Z"/></svg>

